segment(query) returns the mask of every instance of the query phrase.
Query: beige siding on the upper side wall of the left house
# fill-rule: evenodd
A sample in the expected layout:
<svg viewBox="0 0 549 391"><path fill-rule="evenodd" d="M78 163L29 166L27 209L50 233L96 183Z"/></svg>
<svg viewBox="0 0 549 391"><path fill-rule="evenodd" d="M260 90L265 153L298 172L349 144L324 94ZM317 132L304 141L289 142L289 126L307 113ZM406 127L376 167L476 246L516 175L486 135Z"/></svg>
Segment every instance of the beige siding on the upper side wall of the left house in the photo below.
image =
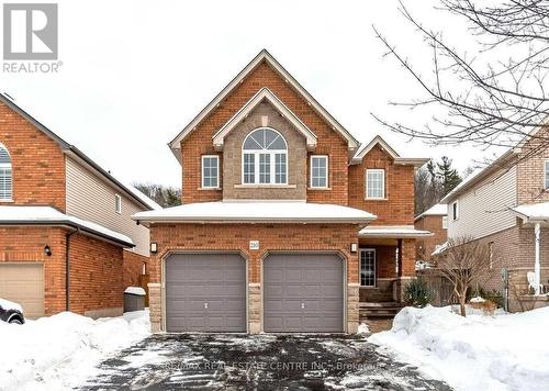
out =
<svg viewBox="0 0 549 391"><path fill-rule="evenodd" d="M67 157L67 214L107 226L130 236L137 254L149 256L148 228L137 225L131 219L134 213L143 211L124 193L109 186L97 175L81 166L75 159ZM122 213L116 213L114 194L122 197Z"/></svg>

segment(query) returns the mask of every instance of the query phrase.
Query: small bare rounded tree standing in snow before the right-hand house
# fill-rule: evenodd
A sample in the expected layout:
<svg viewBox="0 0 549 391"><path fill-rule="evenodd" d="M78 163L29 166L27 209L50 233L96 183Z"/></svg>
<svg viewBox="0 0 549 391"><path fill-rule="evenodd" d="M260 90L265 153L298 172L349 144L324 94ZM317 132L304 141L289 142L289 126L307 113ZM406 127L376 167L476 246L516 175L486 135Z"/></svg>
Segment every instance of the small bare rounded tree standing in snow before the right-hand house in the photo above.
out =
<svg viewBox="0 0 549 391"><path fill-rule="evenodd" d="M482 286L490 279L490 248L471 237L450 238L437 256L437 269L453 287L461 316L466 316L467 293L471 286Z"/></svg>

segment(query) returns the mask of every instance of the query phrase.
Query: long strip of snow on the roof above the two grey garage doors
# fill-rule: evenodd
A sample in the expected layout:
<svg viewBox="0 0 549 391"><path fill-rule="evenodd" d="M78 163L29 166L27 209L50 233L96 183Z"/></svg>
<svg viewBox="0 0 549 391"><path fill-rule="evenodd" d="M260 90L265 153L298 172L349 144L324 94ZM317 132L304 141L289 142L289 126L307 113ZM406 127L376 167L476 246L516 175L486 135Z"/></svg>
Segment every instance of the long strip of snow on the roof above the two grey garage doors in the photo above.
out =
<svg viewBox="0 0 549 391"><path fill-rule="evenodd" d="M304 201L217 201L198 202L139 212L132 219L154 221L216 221L216 222L332 222L368 223L376 215L358 209Z"/></svg>

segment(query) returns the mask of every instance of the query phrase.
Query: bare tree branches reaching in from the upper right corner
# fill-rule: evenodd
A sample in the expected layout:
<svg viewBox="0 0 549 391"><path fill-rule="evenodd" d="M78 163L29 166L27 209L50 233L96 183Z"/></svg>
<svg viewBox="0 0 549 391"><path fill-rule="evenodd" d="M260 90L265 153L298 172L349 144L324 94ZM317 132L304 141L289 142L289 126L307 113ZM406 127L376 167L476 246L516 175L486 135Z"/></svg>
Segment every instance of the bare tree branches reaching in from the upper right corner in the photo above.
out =
<svg viewBox="0 0 549 391"><path fill-rule="evenodd" d="M419 71L400 48L374 27L395 58L424 91L407 108L438 107L440 116L423 127L391 122L372 114L389 129L433 144L470 144L483 148L529 143L520 159L549 145L546 118L549 71L549 1L503 0L478 5L474 0L439 0L440 9L466 19L478 47L455 47L400 2L400 11L432 53L432 69ZM424 69L422 69L424 70ZM425 76L428 75L428 76ZM533 132L541 129L544 132ZM508 165L512 161L506 161ZM514 161L516 163L516 161Z"/></svg>

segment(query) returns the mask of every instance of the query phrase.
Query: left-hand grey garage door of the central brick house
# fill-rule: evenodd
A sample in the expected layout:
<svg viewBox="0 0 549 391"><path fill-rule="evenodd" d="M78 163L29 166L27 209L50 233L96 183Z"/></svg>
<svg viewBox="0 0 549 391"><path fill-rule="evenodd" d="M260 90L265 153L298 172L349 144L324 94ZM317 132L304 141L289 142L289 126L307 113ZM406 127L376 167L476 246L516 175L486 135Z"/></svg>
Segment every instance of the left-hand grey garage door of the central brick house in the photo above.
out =
<svg viewBox="0 0 549 391"><path fill-rule="evenodd" d="M236 254L166 259L167 332L246 332L246 261Z"/></svg>

